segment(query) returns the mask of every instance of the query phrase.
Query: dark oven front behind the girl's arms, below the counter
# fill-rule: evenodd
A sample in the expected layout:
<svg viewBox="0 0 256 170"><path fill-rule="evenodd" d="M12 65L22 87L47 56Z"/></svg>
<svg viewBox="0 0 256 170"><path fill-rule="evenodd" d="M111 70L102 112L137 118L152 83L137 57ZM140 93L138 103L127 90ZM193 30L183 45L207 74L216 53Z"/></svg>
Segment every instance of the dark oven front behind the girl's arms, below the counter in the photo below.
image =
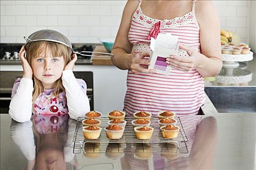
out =
<svg viewBox="0 0 256 170"><path fill-rule="evenodd" d="M11 102L12 87L17 78L22 77L22 71L0 71L0 113L8 113ZM93 72L74 71L78 79L83 79L87 84L87 96L90 101L91 110L94 110L93 96Z"/></svg>

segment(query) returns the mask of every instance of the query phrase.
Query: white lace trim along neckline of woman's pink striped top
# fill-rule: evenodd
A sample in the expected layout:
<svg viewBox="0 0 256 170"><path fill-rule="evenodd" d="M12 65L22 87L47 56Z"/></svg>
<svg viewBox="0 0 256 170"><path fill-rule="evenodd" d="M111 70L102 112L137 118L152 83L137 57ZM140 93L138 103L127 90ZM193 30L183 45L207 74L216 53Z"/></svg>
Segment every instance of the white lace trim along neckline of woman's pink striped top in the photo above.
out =
<svg viewBox="0 0 256 170"><path fill-rule="evenodd" d="M190 11L189 13L185 14L182 17L159 20L159 19L154 19L154 18L145 16L142 13L140 5L138 5L138 8L135 11L133 17L135 17L136 20L138 20L141 24L143 24L148 28L152 28L154 24L157 23L158 21L161 21L161 28L173 28L173 27L185 26L188 23L195 22L193 11Z"/></svg>

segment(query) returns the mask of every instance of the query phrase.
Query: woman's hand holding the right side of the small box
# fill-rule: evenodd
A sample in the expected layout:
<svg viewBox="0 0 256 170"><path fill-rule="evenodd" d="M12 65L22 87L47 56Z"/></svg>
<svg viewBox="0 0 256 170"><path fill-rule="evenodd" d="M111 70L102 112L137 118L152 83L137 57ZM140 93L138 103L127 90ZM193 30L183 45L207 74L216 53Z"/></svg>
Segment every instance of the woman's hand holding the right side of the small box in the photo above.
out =
<svg viewBox="0 0 256 170"><path fill-rule="evenodd" d="M176 68L181 71L190 71L196 69L201 63L201 54L192 47L179 44L179 49L187 51L189 57L179 57L176 55L170 55L166 58L166 63L172 68Z"/></svg>

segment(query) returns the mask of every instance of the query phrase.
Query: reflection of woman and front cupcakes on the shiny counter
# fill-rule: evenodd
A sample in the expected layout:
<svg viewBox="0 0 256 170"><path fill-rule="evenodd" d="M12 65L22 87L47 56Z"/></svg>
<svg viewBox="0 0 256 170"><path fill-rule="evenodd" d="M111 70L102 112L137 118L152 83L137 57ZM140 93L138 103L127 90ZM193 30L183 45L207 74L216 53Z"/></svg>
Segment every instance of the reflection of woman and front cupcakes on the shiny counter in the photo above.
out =
<svg viewBox="0 0 256 170"><path fill-rule="evenodd" d="M99 160L118 161L123 170L148 169L213 169L215 146L217 144L217 121L214 117L180 117L189 142L182 143L86 143L83 166ZM93 153L95 152L95 153ZM95 154L95 155L94 155ZM88 160L86 160L88 159ZM99 163L100 164L100 163ZM98 168L102 167L98 164ZM96 166L96 165L95 165ZM113 169L118 169L113 164ZM153 167L152 167L153 166Z"/></svg>

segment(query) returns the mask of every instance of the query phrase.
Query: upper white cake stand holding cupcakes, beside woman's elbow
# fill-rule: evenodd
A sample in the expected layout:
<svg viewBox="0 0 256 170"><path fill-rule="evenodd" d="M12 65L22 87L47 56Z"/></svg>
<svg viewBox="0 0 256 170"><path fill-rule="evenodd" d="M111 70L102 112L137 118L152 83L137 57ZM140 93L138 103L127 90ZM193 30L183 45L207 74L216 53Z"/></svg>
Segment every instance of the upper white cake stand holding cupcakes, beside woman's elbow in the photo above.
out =
<svg viewBox="0 0 256 170"><path fill-rule="evenodd" d="M222 67L223 68L238 68L239 63L242 61L253 60L253 52L250 51L248 54L221 54L222 55Z"/></svg>

